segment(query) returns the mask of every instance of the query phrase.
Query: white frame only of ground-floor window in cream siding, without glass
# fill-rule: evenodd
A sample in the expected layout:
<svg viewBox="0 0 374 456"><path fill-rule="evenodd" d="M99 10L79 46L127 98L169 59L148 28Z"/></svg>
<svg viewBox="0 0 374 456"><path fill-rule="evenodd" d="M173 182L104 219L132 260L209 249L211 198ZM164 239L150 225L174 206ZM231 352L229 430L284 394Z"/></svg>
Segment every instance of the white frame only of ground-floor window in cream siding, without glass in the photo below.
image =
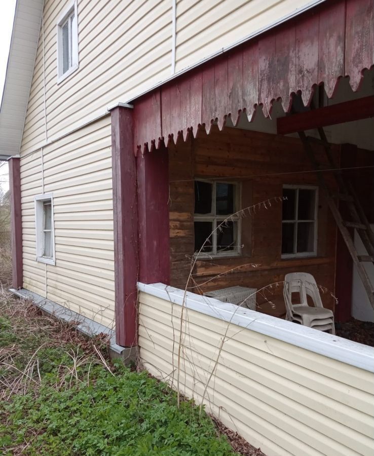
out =
<svg viewBox="0 0 374 456"><path fill-rule="evenodd" d="M44 203L51 202L51 253L44 256ZM35 236L36 236L36 261L46 264L56 264L55 254L55 227L53 216L53 193L46 193L34 197L35 204Z"/></svg>

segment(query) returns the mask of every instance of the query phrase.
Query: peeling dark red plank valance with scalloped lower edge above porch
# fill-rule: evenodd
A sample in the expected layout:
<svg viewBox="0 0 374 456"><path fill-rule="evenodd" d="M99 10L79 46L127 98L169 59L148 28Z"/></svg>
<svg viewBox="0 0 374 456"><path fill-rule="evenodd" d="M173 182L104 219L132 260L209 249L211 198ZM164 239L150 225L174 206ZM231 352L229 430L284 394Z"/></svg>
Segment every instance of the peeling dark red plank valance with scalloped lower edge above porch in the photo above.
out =
<svg viewBox="0 0 374 456"><path fill-rule="evenodd" d="M135 144L157 148L158 138L186 132L212 119L223 123L257 103L271 111L282 98L301 91L307 104L312 86L324 83L331 96L340 77L357 90L362 70L374 64L372 0L329 0L267 33L181 75L134 101ZM152 144L151 141L154 141ZM144 146L145 143L148 143Z"/></svg>

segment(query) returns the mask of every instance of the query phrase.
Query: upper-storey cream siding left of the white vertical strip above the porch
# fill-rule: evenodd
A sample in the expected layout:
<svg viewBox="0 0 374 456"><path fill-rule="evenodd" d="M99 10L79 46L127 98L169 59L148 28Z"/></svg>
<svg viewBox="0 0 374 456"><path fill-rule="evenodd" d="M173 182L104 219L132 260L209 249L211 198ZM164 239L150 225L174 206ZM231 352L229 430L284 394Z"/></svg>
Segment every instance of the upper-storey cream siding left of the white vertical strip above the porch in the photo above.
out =
<svg viewBox="0 0 374 456"><path fill-rule="evenodd" d="M57 84L56 23L64 8L59 0L46 0L44 7L48 139L92 121L120 98L145 91L171 71L171 0L79 0L79 69ZM43 71L34 72L31 93L43 98L43 87ZM26 125L33 123L33 108L30 99ZM25 133L21 154L38 144L36 133Z"/></svg>

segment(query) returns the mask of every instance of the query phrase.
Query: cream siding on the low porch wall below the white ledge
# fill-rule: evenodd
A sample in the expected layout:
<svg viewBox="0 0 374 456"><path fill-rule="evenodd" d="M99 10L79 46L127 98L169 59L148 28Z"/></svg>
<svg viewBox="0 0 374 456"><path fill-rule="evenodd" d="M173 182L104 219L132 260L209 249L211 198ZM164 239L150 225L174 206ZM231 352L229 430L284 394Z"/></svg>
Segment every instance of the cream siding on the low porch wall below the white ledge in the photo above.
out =
<svg viewBox="0 0 374 456"><path fill-rule="evenodd" d="M176 388L181 306L139 299L141 361ZM372 455L371 372L191 309L182 328L180 391L200 403L214 371L206 410L268 456Z"/></svg>

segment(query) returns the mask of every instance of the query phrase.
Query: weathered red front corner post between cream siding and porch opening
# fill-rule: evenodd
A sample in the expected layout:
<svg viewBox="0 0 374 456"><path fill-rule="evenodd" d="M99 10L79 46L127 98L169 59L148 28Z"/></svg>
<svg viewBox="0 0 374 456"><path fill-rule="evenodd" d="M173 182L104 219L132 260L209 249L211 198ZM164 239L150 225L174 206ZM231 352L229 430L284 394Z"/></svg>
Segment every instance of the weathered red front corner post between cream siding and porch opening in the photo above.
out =
<svg viewBox="0 0 374 456"><path fill-rule="evenodd" d="M138 218L132 109L111 111L116 342L137 343Z"/></svg>

